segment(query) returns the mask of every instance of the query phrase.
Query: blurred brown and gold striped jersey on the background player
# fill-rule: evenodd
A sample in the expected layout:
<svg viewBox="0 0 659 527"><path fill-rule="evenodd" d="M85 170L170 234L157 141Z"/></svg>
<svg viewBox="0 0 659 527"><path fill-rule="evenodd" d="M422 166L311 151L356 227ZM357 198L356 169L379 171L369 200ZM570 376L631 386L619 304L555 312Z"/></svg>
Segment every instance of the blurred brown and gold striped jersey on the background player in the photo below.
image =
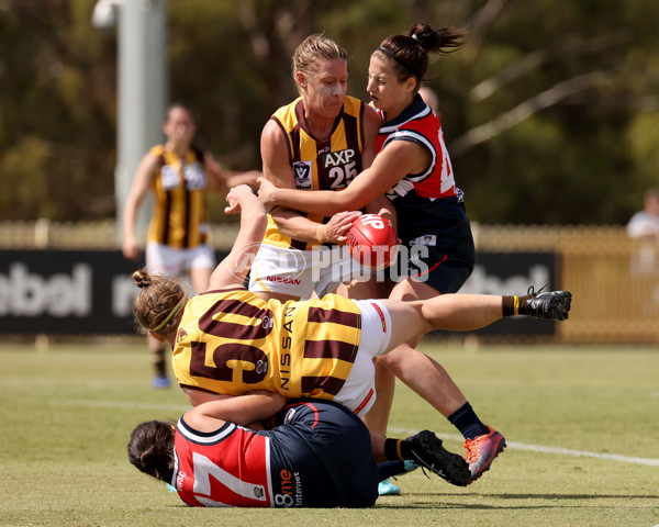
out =
<svg viewBox="0 0 659 527"><path fill-rule="evenodd" d="M185 159L154 146L150 154L160 161L152 189L156 203L148 229L148 242L176 249L191 249L208 237L205 208L206 178L200 154L190 148Z"/></svg>

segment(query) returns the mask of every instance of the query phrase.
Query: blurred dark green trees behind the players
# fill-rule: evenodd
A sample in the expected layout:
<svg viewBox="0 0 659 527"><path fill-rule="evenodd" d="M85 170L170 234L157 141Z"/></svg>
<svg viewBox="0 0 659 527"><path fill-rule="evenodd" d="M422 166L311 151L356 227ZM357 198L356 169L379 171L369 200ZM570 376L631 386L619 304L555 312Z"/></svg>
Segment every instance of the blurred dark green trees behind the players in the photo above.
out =
<svg viewBox="0 0 659 527"><path fill-rule="evenodd" d="M116 30L89 0L0 0L0 218L112 217ZM233 169L260 166L270 114L297 96L290 57L325 32L367 99L370 53L414 21L467 26L429 86L470 216L625 223L659 183L655 0L167 0L169 92ZM222 199L213 220L222 221Z"/></svg>

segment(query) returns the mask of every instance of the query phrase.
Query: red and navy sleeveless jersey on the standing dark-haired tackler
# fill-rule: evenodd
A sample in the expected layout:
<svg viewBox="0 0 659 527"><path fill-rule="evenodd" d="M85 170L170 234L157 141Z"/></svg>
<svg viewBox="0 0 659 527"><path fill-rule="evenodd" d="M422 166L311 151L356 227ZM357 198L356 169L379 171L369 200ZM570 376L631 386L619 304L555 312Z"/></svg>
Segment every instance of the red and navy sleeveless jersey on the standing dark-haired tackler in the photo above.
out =
<svg viewBox="0 0 659 527"><path fill-rule="evenodd" d="M383 116L380 110L378 112ZM422 172L409 173L392 187L387 192L390 200L404 200L411 191L422 198L461 198L462 192L456 187L444 144L439 117L420 96L402 114L382 124L376 143L377 152L393 141L409 141L422 146L431 154L431 164Z"/></svg>

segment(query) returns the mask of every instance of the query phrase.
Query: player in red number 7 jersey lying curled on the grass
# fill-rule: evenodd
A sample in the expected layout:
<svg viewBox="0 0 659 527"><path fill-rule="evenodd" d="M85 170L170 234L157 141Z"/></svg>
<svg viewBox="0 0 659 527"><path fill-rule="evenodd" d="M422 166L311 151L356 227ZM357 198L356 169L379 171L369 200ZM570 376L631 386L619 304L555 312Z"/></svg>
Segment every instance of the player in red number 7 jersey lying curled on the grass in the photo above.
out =
<svg viewBox="0 0 659 527"><path fill-rule="evenodd" d="M378 497L378 482L400 470L386 460L437 461L448 455L429 430L389 439L371 435L337 403L284 401L252 392L202 403L176 427L142 423L131 435L129 459L169 483L190 506L368 507ZM238 424L272 412L269 430L258 421Z"/></svg>

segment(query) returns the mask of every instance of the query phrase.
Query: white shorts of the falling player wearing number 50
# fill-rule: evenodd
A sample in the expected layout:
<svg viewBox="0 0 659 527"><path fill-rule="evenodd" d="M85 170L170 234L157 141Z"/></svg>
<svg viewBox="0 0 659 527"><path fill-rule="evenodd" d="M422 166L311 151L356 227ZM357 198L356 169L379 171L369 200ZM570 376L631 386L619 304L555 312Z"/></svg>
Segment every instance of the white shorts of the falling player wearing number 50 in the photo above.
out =
<svg viewBox="0 0 659 527"><path fill-rule="evenodd" d="M364 417L376 402L373 359L387 351L391 339L391 315L377 300L354 302L361 313L361 337L353 369L334 401Z"/></svg>

